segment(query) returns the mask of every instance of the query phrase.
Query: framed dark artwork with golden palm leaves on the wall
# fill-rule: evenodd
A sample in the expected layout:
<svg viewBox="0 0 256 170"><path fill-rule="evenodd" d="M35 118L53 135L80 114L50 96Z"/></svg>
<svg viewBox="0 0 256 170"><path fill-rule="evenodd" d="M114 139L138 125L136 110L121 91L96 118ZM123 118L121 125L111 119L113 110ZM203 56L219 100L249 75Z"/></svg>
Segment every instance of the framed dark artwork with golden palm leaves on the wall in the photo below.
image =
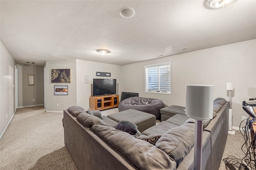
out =
<svg viewBox="0 0 256 170"><path fill-rule="evenodd" d="M52 83L70 83L70 69L52 69Z"/></svg>

